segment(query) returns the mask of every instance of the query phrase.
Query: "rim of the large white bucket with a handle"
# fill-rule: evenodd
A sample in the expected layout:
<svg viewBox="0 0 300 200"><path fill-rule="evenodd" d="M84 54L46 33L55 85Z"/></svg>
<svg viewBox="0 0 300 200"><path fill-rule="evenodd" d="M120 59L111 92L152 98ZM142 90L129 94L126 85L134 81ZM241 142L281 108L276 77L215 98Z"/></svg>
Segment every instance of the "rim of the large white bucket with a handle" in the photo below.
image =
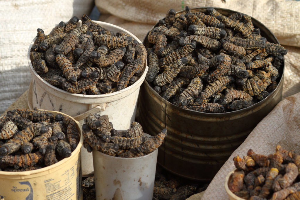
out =
<svg viewBox="0 0 300 200"><path fill-rule="evenodd" d="M119 26L116 26L114 24L111 24L111 23L106 23L106 22L102 22L102 21L97 21L97 20L92 20L93 22L96 22L100 25L105 25L105 26L110 26L110 27L114 27L116 29L119 29L119 31L123 31L123 32L126 32L128 33L129 35L131 35L131 37L133 37L135 40L137 40L139 43L143 44L142 41L140 41L139 38L137 38L133 33L129 32L128 30L126 29L123 29L122 27L119 27ZM51 32L55 26L57 26L58 24L55 24L53 26L50 26L48 27L47 29L45 29L45 33L47 32ZM77 25L81 25L81 20L79 20L78 24ZM31 41L31 43L29 44L29 48L28 48L28 52L27 52L27 60L28 60L28 64L29 64L29 69L30 69L30 72L32 75L35 75L41 82L43 82L47 87L50 87L51 89L53 90L56 90L57 92L60 92L64 95L68 95L68 96L71 96L71 97L79 97L79 98L105 98L105 97L111 97L111 96L115 96L115 95L120 95L124 92L127 92L128 90L131 90L131 89L134 89L136 86L139 86L143 83L143 80L144 78L146 77L146 73L148 71L148 66L147 66L147 59L146 59L146 62L144 64L144 68L143 68L143 74L142 76L134 83L132 84L131 86L128 86L122 90L119 90L119 91L116 91L116 92L112 92L112 93L109 93L109 94L100 94L100 95L84 95L84 94L77 94L77 93L71 93L71 92L67 92L63 89L60 89L56 86L53 86L51 85L50 83L48 83L47 81L45 81L36 71L35 69L33 68L32 66L32 62L31 62L31 58L30 58L30 49L32 48L33 44L35 43L36 39L38 37L35 36L35 38L33 38L33 40ZM33 77L32 77L33 78ZM34 79L34 78L33 78Z"/></svg>

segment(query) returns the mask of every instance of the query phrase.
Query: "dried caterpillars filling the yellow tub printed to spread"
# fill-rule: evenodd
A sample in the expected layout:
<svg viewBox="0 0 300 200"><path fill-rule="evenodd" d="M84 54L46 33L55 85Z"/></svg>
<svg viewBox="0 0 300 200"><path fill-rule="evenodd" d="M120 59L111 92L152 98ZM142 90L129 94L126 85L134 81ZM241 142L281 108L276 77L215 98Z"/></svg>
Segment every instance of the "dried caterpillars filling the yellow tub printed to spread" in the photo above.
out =
<svg viewBox="0 0 300 200"><path fill-rule="evenodd" d="M0 170L28 171L71 156L80 139L70 117L39 109L8 111L0 118Z"/></svg>

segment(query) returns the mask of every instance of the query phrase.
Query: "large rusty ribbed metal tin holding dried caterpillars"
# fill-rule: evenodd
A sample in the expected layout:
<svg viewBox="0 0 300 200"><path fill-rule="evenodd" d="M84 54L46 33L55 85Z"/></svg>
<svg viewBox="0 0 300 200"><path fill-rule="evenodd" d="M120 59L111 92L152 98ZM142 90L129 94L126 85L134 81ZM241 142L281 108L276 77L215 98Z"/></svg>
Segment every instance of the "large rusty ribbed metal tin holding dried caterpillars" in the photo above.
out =
<svg viewBox="0 0 300 200"><path fill-rule="evenodd" d="M192 12L204 12L205 9L195 8ZM236 13L228 9L215 9L226 16ZM184 11L179 11L177 15L182 13ZM262 37L269 42L279 43L262 23L254 18L252 22L261 30ZM147 42L146 36L143 43ZM254 127L281 101L284 63L280 74L277 88L262 101L238 111L216 114L173 105L158 95L145 80L138 99L137 121L142 124L144 132L150 135L164 128L168 130L163 145L159 147L158 163L185 178L211 180Z"/></svg>

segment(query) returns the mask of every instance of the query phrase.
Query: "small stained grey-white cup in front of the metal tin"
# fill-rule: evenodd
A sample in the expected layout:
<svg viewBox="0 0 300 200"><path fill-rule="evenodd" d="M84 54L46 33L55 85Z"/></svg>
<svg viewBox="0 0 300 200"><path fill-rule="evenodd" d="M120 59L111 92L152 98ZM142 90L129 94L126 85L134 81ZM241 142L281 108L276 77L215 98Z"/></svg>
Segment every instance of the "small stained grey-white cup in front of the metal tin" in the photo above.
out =
<svg viewBox="0 0 300 200"><path fill-rule="evenodd" d="M152 200L157 154L121 158L93 150L96 199Z"/></svg>

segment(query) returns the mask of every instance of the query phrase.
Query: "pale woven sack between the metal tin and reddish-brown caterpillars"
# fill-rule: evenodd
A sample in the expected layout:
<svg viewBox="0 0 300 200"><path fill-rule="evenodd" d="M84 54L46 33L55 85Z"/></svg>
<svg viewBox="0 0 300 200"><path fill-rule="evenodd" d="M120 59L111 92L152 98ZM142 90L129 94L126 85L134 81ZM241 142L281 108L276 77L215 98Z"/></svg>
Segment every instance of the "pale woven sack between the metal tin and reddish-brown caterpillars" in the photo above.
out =
<svg viewBox="0 0 300 200"><path fill-rule="evenodd" d="M251 148L255 153L275 153L280 144L286 150L300 149L300 92L279 102L276 107L255 127L218 171L204 192L204 199L229 199L224 189L226 175L235 169L233 157L246 155Z"/></svg>

